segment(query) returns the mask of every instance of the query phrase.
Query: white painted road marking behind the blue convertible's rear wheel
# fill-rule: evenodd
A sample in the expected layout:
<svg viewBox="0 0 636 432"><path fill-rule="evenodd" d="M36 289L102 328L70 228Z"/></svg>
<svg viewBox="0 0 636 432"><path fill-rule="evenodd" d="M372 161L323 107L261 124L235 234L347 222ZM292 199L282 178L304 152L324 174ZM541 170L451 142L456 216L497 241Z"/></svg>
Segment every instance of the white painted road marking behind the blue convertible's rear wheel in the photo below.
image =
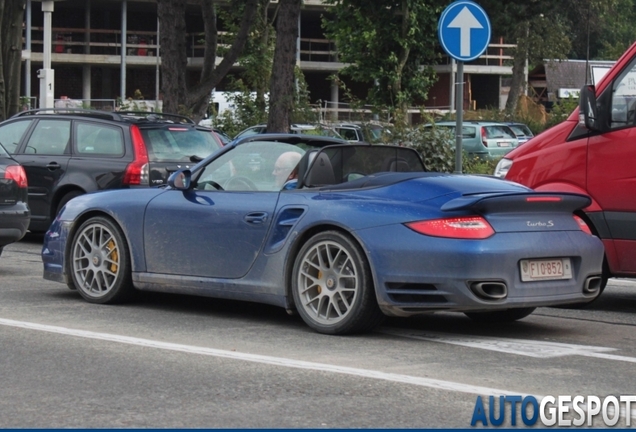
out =
<svg viewBox="0 0 636 432"><path fill-rule="evenodd" d="M411 332L401 330L383 330L381 333L409 339L460 345L488 351L523 355L535 358L553 358L569 355L595 357L604 360L624 361L636 363L635 357L606 354L617 351L616 348L598 347L591 345L564 344L559 342L534 341L529 339L501 339L488 336L466 336L451 333Z"/></svg>

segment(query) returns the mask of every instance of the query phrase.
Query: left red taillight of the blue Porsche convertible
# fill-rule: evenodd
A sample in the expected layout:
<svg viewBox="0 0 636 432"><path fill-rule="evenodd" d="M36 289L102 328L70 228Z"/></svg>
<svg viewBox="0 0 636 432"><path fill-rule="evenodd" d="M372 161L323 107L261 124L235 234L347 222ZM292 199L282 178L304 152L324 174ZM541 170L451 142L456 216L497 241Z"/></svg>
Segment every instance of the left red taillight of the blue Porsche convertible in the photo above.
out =
<svg viewBox="0 0 636 432"><path fill-rule="evenodd" d="M409 222L407 227L420 234L456 239L485 239L495 233L481 216L464 216Z"/></svg>

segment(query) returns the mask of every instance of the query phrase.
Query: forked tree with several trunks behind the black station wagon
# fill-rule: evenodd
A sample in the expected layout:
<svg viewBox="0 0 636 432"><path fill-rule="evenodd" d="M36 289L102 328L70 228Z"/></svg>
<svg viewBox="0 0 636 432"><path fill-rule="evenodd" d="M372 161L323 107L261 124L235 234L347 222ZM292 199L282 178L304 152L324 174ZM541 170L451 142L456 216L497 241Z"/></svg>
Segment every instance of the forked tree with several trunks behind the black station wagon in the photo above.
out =
<svg viewBox="0 0 636 432"><path fill-rule="evenodd" d="M243 7L238 31L223 60L215 65L218 48L216 9L212 0L201 0L205 33L205 53L199 82L189 88L185 74L187 66L186 0L157 0L157 14L161 29L161 89L163 109L182 113L195 121L203 118L210 94L230 71L245 46L252 28L259 0L233 1L232 7Z"/></svg>

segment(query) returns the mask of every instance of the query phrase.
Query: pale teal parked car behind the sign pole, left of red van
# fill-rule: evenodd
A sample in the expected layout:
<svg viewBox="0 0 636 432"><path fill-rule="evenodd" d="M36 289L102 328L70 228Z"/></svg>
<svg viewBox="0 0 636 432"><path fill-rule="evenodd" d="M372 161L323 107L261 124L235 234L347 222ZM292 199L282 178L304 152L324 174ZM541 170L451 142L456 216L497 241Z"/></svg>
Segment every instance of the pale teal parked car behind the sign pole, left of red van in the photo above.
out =
<svg viewBox="0 0 636 432"><path fill-rule="evenodd" d="M455 135L455 121L425 125L425 128L444 128ZM468 156L499 159L516 148L519 140L510 127L498 122L465 121L462 123L462 147Z"/></svg>

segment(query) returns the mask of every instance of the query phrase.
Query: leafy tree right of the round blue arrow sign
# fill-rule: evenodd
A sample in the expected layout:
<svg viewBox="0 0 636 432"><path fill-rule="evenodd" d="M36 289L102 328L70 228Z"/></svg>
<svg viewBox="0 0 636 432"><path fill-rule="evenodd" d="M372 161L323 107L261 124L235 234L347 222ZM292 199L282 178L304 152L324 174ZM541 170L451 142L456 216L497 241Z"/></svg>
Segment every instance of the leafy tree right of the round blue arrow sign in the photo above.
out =
<svg viewBox="0 0 636 432"><path fill-rule="evenodd" d="M480 0L493 29L515 43L512 82L506 111L513 113L527 83L526 62L545 59L616 58L633 34L634 0Z"/></svg>

